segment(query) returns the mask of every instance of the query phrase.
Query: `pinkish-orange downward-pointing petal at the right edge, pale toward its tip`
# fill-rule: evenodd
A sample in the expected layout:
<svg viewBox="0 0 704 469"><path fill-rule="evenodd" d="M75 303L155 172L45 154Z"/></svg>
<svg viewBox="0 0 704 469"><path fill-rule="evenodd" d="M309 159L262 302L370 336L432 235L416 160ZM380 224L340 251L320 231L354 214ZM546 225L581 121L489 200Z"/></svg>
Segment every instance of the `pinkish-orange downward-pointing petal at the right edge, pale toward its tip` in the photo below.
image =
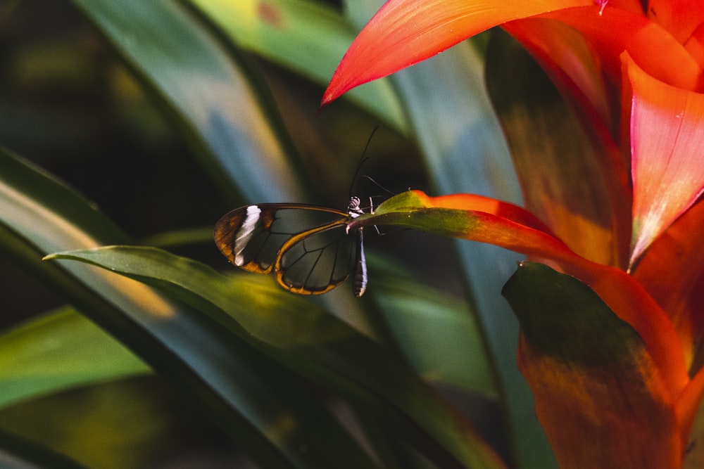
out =
<svg viewBox="0 0 704 469"><path fill-rule="evenodd" d="M659 82L624 56L631 86L631 266L704 190L704 95Z"/></svg>

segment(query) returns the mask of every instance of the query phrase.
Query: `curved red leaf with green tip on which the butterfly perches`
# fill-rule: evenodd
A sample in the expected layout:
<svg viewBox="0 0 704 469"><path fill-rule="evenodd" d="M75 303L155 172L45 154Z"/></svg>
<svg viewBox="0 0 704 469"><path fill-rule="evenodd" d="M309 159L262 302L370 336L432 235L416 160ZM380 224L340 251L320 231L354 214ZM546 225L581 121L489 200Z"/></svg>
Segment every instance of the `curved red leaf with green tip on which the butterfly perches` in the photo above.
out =
<svg viewBox="0 0 704 469"><path fill-rule="evenodd" d="M421 191L408 191L379 205L375 214L351 221L349 228L378 224L490 243L550 262L589 285L639 333L672 396L689 381L677 331L643 286L620 269L575 254L542 229L541 222L527 210L471 194L432 198Z"/></svg>

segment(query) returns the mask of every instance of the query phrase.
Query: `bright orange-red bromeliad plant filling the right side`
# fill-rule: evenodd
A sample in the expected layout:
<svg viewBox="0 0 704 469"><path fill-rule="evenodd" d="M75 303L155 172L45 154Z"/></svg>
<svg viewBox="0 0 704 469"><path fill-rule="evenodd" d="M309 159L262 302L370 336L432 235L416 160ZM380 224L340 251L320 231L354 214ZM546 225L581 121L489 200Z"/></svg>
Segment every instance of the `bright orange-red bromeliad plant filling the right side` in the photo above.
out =
<svg viewBox="0 0 704 469"><path fill-rule="evenodd" d="M591 151L575 146L547 172L503 115L527 210L412 191L350 224L492 243L567 274L527 262L504 288L561 467L701 461L703 22L698 0L389 0L322 99L501 25L572 105Z"/></svg>

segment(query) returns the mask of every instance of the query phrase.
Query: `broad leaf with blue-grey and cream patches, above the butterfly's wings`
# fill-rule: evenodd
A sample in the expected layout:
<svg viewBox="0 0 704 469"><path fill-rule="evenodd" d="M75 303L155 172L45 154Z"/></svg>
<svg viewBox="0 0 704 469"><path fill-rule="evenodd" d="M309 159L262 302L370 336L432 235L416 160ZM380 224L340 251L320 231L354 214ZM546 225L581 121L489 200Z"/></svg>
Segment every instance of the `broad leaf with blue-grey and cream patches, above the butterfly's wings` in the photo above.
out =
<svg viewBox="0 0 704 469"><path fill-rule="evenodd" d="M210 176L230 195L241 192L258 202L306 200L305 186L291 178L292 147L275 132L252 78L179 2L73 3L172 110Z"/></svg>

